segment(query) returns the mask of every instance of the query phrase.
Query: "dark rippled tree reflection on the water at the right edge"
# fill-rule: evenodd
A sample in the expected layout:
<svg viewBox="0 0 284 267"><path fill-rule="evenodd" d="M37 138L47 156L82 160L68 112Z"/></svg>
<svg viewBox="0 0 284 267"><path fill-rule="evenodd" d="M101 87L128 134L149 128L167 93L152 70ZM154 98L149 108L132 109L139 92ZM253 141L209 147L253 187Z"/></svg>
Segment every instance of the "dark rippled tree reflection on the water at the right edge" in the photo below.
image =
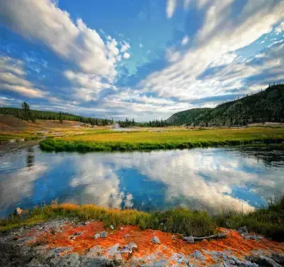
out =
<svg viewBox="0 0 284 267"><path fill-rule="evenodd" d="M256 158L259 161L263 161L263 163L268 166L278 165L277 163L284 162L284 146L244 146L239 148L239 152L243 157Z"/></svg>

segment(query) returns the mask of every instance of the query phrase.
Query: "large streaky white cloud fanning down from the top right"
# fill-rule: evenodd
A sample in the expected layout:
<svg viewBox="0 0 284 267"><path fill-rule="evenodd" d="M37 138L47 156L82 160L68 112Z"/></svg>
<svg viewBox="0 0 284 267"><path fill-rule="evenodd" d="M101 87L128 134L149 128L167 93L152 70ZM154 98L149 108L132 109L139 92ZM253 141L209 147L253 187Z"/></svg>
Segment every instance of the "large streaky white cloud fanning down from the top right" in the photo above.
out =
<svg viewBox="0 0 284 267"><path fill-rule="evenodd" d="M273 31L275 23L283 19L284 2L248 1L235 21L231 21L231 3L215 0L207 6L204 26L192 40L195 47L141 81L138 86L143 92L183 101L224 96L231 94L231 89L244 87L247 77L260 73L258 67L241 62L234 51ZM209 67L226 64L230 65L222 72L215 70L208 79L199 78Z"/></svg>

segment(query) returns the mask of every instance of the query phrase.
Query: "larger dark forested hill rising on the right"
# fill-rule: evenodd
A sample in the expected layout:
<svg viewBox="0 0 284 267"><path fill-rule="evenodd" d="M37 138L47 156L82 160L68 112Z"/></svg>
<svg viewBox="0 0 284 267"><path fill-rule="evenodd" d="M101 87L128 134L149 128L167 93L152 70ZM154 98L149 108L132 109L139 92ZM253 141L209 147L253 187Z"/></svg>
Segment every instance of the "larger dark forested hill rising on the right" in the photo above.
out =
<svg viewBox="0 0 284 267"><path fill-rule="evenodd" d="M243 126L264 121L284 122L284 85L270 86L264 91L220 104L214 109L181 111L167 119L170 124L193 126Z"/></svg>

